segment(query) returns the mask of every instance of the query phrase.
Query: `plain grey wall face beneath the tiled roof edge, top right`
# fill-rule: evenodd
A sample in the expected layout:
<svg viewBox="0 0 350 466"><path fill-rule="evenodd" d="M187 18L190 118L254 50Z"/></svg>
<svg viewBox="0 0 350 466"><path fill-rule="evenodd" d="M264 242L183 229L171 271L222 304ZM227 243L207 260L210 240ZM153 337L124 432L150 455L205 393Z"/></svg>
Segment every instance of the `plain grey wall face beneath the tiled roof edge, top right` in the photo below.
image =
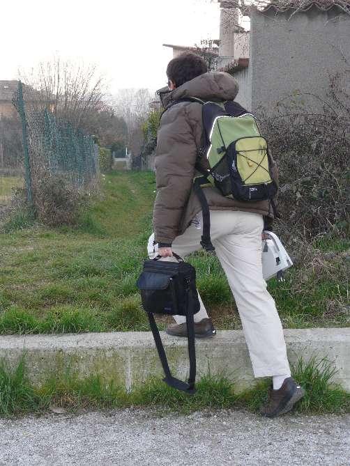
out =
<svg viewBox="0 0 350 466"><path fill-rule="evenodd" d="M313 7L292 16L272 8L264 14L255 10L250 54L253 111L261 106L273 111L277 102L291 95L318 111L322 102L310 94L325 100L330 75L350 68L350 15L338 7L328 11ZM349 82L348 86L350 91Z"/></svg>

